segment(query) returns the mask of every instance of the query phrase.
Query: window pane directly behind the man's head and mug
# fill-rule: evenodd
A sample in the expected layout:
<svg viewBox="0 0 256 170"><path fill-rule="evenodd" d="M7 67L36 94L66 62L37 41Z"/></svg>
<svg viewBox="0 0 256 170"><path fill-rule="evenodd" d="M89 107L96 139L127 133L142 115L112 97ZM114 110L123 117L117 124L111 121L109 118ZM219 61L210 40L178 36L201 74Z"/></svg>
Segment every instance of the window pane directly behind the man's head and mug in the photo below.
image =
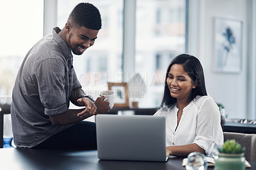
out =
<svg viewBox="0 0 256 170"><path fill-rule="evenodd" d="M84 1L59 0L58 26L62 29L72 9ZM123 1L86 1L96 6L102 17L95 44L81 56L74 55L74 68L84 91L93 97L108 89L107 82L122 80Z"/></svg>

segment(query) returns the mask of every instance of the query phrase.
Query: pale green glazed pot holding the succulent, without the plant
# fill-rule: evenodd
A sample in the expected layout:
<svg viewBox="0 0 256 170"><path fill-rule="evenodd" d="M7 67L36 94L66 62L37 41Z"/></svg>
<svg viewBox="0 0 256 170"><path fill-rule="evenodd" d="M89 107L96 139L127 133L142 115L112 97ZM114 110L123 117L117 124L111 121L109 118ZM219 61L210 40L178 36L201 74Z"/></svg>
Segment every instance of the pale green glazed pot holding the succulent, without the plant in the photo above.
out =
<svg viewBox="0 0 256 170"><path fill-rule="evenodd" d="M242 170L244 166L245 158L244 153L219 153L215 158L215 170Z"/></svg>

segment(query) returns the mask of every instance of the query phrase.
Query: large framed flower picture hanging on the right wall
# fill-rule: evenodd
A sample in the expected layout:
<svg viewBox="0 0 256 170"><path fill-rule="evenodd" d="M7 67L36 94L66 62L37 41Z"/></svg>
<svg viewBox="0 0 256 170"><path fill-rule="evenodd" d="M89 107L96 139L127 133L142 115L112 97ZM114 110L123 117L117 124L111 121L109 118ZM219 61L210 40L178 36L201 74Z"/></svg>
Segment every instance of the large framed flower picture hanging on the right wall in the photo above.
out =
<svg viewBox="0 0 256 170"><path fill-rule="evenodd" d="M214 24L214 70L239 73L242 67L243 22L216 17Z"/></svg>

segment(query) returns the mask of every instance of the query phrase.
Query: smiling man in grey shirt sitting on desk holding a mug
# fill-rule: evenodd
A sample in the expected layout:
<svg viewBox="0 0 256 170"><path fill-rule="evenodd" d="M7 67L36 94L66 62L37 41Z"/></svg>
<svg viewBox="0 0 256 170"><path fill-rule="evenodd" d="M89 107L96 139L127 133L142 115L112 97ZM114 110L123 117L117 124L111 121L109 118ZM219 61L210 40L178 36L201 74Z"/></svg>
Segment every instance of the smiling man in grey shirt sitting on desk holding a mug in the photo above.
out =
<svg viewBox="0 0 256 170"><path fill-rule="evenodd" d="M12 95L14 144L24 148L96 149L95 123L82 121L109 112L109 102L86 95L73 56L92 46L101 28L99 10L80 3L65 27L37 42L20 66ZM68 109L69 102L85 109Z"/></svg>

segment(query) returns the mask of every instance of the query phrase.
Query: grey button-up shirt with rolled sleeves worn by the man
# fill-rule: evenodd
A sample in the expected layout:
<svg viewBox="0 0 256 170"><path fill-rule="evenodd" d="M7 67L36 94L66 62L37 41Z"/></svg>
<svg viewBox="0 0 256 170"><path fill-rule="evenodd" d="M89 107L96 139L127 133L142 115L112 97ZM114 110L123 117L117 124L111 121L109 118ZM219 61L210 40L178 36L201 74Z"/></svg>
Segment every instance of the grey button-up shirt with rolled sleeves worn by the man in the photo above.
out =
<svg viewBox="0 0 256 170"><path fill-rule="evenodd" d="M12 94L12 130L17 147L31 148L68 126L53 126L49 115L68 110L73 89L81 88L70 48L58 35L37 42L26 55Z"/></svg>

